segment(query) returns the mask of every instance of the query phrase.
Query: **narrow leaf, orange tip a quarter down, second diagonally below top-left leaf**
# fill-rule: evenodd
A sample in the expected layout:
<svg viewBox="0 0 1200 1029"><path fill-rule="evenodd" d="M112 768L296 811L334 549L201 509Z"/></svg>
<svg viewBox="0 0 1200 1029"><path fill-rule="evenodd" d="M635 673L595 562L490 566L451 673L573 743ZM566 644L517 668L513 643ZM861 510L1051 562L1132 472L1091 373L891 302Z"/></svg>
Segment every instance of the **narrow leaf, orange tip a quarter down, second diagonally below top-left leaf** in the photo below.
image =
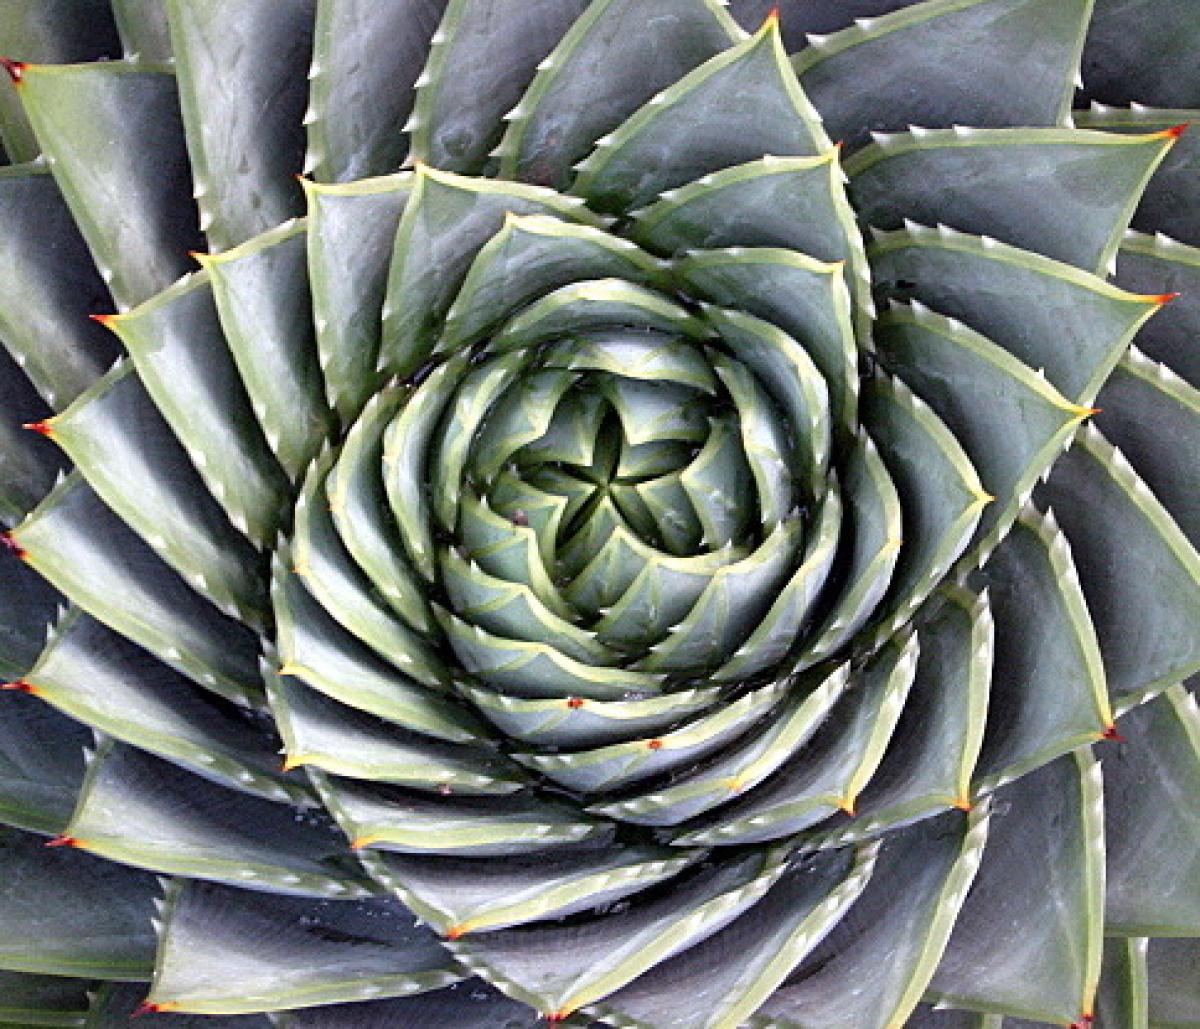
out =
<svg viewBox="0 0 1200 1029"><path fill-rule="evenodd" d="M307 223L284 222L241 246L198 255L221 327L268 446L298 479L330 434L306 265Z"/></svg>

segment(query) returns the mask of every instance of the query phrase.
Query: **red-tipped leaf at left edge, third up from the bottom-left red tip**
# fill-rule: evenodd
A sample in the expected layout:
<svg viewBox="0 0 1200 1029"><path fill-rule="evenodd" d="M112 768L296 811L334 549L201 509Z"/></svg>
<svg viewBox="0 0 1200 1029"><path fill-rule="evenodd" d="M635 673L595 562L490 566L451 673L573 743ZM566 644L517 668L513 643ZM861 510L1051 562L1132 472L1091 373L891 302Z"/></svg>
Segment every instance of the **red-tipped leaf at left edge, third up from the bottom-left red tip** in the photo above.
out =
<svg viewBox="0 0 1200 1029"><path fill-rule="evenodd" d="M73 608L26 675L35 696L97 733L212 782L312 806L305 784L280 774L274 735L236 708L155 661Z"/></svg>

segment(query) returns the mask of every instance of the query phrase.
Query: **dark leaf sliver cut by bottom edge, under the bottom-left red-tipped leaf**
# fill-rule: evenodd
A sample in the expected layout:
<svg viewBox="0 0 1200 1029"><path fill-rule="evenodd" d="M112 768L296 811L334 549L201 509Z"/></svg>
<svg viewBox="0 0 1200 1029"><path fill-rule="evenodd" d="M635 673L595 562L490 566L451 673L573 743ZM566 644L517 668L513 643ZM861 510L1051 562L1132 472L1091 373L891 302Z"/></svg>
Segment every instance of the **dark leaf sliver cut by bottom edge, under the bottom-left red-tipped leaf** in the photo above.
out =
<svg viewBox="0 0 1200 1029"><path fill-rule="evenodd" d="M535 1011L481 979L467 979L415 997L313 1007L275 1018L274 1024L281 1029L391 1029L394 1025L444 1029L467 1024L472 1029L538 1029L540 1023Z"/></svg>

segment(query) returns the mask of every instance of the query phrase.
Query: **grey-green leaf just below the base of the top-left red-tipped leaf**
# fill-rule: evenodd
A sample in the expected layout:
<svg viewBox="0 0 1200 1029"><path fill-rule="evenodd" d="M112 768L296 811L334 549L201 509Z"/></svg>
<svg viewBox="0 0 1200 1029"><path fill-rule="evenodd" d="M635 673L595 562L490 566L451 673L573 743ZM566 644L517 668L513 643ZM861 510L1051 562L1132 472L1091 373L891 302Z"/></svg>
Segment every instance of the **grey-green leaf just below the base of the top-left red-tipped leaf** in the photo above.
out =
<svg viewBox="0 0 1200 1029"><path fill-rule="evenodd" d="M226 344L206 272L104 323L209 491L252 543L274 541L288 494ZM212 432L211 426L223 426Z"/></svg>

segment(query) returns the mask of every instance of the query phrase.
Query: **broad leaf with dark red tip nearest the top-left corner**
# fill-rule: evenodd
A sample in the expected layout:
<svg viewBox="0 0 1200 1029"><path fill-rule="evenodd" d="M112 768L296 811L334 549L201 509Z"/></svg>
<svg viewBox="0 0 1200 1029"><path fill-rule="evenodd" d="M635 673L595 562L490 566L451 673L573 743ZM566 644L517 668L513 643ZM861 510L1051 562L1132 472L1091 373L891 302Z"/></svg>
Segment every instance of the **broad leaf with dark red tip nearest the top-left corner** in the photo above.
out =
<svg viewBox="0 0 1200 1029"><path fill-rule="evenodd" d="M158 65L29 65L20 98L119 309L187 270L196 249L175 77Z"/></svg>

